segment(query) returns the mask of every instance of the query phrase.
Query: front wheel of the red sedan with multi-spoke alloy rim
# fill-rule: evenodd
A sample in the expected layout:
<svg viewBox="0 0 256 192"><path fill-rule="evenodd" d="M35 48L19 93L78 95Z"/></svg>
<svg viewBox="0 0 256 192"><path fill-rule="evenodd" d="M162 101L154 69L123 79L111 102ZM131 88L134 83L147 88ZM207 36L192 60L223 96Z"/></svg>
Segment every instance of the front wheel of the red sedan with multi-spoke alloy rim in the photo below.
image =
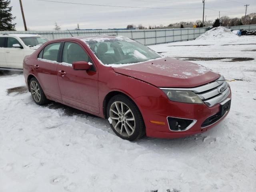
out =
<svg viewBox="0 0 256 192"><path fill-rule="evenodd" d="M122 139L138 140L146 133L140 110L127 96L118 94L109 100L107 117L112 130Z"/></svg>

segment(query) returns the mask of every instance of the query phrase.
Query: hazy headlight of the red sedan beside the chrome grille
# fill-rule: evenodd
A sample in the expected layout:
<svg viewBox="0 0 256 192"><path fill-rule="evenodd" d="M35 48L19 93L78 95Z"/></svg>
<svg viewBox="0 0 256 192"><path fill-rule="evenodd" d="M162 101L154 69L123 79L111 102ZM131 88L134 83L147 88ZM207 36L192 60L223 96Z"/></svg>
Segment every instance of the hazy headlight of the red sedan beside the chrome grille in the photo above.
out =
<svg viewBox="0 0 256 192"><path fill-rule="evenodd" d="M171 101L182 103L203 104L202 100L192 91L163 90Z"/></svg>

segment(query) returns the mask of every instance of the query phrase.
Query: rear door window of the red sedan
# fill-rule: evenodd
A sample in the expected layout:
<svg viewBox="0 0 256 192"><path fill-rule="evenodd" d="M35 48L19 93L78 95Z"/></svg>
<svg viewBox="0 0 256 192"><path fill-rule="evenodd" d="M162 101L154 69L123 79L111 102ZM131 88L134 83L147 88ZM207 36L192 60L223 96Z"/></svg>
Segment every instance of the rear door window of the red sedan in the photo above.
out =
<svg viewBox="0 0 256 192"><path fill-rule="evenodd" d="M60 42L47 45L44 48L44 52L42 53L42 58L51 60L51 61L57 61L59 49L60 49ZM39 57L40 57L40 54L39 54Z"/></svg>

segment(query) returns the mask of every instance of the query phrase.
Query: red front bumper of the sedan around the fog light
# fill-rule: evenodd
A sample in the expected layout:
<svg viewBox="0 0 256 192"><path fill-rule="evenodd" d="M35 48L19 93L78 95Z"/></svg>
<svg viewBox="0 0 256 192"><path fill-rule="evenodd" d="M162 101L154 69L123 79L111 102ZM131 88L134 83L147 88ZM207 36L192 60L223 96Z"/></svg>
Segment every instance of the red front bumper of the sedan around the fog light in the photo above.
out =
<svg viewBox="0 0 256 192"><path fill-rule="evenodd" d="M227 98L231 98L231 92ZM220 112L220 104L208 107L206 104L187 104L172 102L167 98L138 97L135 99L142 113L146 126L146 135L156 138L182 138L199 134L219 124L228 114L227 111L218 121L204 127L206 119ZM167 117L196 120L196 123L185 131L169 129ZM150 121L165 122L165 125L154 124ZM204 128L203 128L204 127Z"/></svg>

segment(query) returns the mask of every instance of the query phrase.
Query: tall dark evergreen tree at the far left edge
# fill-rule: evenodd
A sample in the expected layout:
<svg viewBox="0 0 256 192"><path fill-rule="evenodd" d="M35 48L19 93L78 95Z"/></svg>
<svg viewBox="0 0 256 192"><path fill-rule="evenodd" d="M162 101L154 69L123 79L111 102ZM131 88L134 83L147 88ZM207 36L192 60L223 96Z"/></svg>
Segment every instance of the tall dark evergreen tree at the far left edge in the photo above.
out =
<svg viewBox="0 0 256 192"><path fill-rule="evenodd" d="M9 6L10 0L0 0L0 31L14 31L16 23L12 24L12 20L16 17L12 16L12 6Z"/></svg>

